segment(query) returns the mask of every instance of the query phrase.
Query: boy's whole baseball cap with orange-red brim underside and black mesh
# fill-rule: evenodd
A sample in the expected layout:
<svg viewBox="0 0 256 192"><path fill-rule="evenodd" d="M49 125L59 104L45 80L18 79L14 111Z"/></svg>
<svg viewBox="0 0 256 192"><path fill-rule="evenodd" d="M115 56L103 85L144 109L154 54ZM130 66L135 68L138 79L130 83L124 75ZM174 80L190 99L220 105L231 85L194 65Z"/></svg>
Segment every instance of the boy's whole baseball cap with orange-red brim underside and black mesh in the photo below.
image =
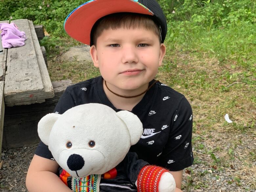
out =
<svg viewBox="0 0 256 192"><path fill-rule="evenodd" d="M152 15L159 24L163 43L167 33L167 23L156 0L91 0L78 6L67 16L64 29L75 40L92 46L91 31L96 21L118 12Z"/></svg>

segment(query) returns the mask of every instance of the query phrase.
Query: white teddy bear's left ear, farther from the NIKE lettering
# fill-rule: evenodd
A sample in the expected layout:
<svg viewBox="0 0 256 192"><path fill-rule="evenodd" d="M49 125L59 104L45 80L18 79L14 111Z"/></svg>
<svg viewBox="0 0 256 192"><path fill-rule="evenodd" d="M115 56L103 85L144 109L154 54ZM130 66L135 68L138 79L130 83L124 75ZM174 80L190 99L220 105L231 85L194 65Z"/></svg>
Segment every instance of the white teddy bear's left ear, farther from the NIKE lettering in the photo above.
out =
<svg viewBox="0 0 256 192"><path fill-rule="evenodd" d="M60 114L49 113L38 122L37 132L41 141L48 145L49 136L53 128L54 123L58 119Z"/></svg>

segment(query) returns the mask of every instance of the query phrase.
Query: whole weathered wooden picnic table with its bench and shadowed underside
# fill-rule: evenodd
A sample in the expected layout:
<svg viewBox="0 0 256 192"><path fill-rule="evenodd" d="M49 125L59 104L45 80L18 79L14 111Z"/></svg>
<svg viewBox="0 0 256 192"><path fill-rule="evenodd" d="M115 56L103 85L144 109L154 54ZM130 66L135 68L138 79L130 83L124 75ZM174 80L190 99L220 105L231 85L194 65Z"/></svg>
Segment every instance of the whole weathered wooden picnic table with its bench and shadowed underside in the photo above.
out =
<svg viewBox="0 0 256 192"><path fill-rule="evenodd" d="M0 54L0 159L2 141L3 148L38 142L38 121L53 111L60 95L72 84L71 80L52 84L42 53L45 49L39 45L32 21L11 23L28 39L24 46L4 49ZM40 27L36 29L40 32Z"/></svg>

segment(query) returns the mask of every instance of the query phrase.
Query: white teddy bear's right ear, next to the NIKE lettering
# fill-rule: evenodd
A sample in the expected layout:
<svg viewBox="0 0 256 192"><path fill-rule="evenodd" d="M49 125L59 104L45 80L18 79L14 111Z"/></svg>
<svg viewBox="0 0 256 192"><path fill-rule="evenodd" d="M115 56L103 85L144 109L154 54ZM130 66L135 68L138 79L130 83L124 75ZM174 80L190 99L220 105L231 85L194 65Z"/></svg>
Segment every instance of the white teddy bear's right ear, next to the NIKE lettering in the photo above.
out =
<svg viewBox="0 0 256 192"><path fill-rule="evenodd" d="M119 111L116 113L117 117L119 117L127 126L130 137L131 137L131 145L135 145L143 132L143 126L139 117L134 115L129 111Z"/></svg>

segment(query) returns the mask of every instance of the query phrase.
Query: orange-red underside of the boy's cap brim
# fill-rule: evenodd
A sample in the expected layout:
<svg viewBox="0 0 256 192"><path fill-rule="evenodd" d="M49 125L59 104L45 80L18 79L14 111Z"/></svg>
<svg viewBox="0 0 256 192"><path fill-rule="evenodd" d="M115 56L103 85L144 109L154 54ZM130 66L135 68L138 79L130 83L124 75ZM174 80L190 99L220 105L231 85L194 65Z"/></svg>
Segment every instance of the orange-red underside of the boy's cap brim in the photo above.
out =
<svg viewBox="0 0 256 192"><path fill-rule="evenodd" d="M105 15L117 12L153 15L136 0L94 0L73 11L66 18L64 29L72 38L90 45L91 30L95 22Z"/></svg>

